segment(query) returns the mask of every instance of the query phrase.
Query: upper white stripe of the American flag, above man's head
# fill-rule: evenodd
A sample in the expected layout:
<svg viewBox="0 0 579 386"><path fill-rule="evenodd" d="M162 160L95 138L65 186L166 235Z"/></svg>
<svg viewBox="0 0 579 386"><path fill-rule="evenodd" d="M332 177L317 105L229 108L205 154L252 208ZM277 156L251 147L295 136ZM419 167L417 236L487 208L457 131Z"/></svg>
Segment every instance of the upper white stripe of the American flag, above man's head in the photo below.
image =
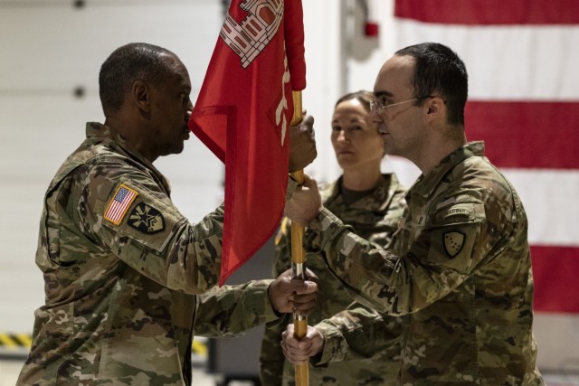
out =
<svg viewBox="0 0 579 386"><path fill-rule="evenodd" d="M399 48L441 42L458 52L472 100L579 100L579 26L395 24Z"/></svg>

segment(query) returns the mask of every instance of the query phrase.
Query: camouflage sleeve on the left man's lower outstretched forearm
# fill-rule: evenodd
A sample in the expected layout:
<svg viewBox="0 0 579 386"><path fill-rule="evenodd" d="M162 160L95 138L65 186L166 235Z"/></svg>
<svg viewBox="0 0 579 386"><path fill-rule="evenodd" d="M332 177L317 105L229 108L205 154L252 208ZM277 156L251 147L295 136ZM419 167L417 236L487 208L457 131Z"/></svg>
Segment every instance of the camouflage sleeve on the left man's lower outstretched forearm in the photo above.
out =
<svg viewBox="0 0 579 386"><path fill-rule="evenodd" d="M214 287L198 297L195 335L228 338L279 320L268 296L271 281L253 280L242 285Z"/></svg>

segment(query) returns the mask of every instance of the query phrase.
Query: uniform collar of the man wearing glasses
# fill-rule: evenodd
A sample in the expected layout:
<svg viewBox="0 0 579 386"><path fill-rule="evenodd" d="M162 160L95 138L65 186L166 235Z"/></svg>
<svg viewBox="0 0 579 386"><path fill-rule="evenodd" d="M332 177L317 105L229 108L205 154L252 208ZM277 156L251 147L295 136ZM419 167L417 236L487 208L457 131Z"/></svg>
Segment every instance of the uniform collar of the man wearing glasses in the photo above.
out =
<svg viewBox="0 0 579 386"><path fill-rule="evenodd" d="M450 155L442 158L441 162L434 166L430 173L421 174L406 193L406 200L410 201L411 196L415 194L419 194L424 198L428 197L441 182L442 177L455 165L471 156L483 156L484 154L485 144L482 141L469 142L465 146L460 146Z"/></svg>

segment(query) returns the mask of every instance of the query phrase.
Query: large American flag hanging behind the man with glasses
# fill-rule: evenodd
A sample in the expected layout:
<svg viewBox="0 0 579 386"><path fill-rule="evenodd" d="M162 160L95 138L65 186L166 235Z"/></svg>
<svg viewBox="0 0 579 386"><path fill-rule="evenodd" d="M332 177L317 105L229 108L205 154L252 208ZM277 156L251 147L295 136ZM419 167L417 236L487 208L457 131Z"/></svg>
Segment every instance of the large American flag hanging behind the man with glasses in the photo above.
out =
<svg viewBox="0 0 579 386"><path fill-rule="evenodd" d="M576 345L579 1L395 0L384 28L397 48L441 42L465 61L467 138L485 141L527 210L536 315L564 315L559 337Z"/></svg>

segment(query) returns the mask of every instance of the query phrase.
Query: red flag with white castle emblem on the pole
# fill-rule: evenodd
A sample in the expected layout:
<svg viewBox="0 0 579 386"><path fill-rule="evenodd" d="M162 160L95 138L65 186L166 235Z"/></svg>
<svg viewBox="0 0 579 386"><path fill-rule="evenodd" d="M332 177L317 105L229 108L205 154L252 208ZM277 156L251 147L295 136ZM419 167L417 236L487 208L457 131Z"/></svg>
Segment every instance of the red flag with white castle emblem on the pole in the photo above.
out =
<svg viewBox="0 0 579 386"><path fill-rule="evenodd" d="M193 109L189 127L225 164L220 286L283 214L303 41L300 0L233 0Z"/></svg>

